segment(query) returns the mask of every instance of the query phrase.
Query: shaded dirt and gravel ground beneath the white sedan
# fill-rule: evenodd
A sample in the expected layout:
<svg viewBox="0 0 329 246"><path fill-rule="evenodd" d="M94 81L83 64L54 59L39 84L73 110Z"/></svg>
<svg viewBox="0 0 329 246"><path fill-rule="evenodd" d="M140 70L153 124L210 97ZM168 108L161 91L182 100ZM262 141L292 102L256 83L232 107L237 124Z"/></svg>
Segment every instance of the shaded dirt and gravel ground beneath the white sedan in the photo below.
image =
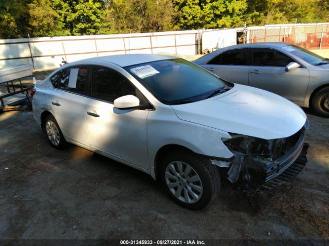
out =
<svg viewBox="0 0 329 246"><path fill-rule="evenodd" d="M223 239L222 245L308 239L324 245L329 119L308 117L309 162L288 186L255 209L242 191L224 182L211 207L189 211L145 173L80 147L53 149L32 112L2 113L0 239L193 238Z"/></svg>

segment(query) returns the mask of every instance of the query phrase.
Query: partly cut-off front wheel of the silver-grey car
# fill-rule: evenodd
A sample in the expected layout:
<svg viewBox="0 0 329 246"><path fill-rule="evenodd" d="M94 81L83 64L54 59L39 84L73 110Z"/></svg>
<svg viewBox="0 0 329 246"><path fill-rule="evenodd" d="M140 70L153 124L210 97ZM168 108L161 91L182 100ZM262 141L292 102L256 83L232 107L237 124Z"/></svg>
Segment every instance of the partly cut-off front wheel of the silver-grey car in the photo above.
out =
<svg viewBox="0 0 329 246"><path fill-rule="evenodd" d="M329 117L329 87L322 88L313 97L313 110L322 117Z"/></svg>

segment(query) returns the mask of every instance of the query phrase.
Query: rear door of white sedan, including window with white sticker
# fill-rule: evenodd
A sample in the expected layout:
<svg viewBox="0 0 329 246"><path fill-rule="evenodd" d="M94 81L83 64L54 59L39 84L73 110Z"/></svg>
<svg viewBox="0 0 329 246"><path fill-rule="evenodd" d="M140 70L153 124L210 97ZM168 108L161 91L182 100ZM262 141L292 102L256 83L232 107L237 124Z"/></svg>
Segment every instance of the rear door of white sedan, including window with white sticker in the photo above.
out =
<svg viewBox="0 0 329 246"><path fill-rule="evenodd" d="M61 70L50 78L56 88L51 96L50 107L66 138L90 146L85 119L88 105L88 66L77 66Z"/></svg>

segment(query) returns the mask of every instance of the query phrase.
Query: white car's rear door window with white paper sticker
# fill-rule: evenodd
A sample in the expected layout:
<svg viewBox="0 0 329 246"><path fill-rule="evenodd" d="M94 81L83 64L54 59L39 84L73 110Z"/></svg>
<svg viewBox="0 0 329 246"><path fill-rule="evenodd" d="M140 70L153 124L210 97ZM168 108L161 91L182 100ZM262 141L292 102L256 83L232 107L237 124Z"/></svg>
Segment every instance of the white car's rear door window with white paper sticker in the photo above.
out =
<svg viewBox="0 0 329 246"><path fill-rule="evenodd" d="M62 70L59 88L79 94L86 94L87 67Z"/></svg>

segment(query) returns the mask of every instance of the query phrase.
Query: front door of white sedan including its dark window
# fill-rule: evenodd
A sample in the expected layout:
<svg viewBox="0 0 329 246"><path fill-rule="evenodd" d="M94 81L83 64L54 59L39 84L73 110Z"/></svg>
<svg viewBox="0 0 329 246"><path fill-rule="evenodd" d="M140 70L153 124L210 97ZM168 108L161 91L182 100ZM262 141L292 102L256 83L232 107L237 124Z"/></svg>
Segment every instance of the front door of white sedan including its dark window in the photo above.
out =
<svg viewBox="0 0 329 246"><path fill-rule="evenodd" d="M148 169L147 99L114 69L94 67L91 76L93 99L85 115L92 148ZM115 108L113 101L125 95L138 97L144 109Z"/></svg>

